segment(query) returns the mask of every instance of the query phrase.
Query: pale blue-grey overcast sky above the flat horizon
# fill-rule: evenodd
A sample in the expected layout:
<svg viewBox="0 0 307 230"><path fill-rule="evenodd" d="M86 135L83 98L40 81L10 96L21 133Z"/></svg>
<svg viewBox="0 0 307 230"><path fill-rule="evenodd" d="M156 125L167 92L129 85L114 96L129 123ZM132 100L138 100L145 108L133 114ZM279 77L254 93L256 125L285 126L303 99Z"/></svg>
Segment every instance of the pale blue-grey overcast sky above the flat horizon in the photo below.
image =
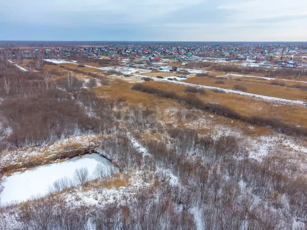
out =
<svg viewBox="0 0 307 230"><path fill-rule="evenodd" d="M307 41L307 0L0 0L0 40Z"/></svg>

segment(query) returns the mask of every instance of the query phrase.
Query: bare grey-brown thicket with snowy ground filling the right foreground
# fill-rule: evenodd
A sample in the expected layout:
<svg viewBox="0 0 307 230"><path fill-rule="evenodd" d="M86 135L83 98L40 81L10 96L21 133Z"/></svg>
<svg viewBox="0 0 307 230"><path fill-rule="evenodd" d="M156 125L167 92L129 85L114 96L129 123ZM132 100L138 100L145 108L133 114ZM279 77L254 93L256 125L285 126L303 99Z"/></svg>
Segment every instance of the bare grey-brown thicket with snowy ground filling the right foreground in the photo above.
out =
<svg viewBox="0 0 307 230"><path fill-rule="evenodd" d="M307 181L293 176L296 171L290 163L278 157L262 162L250 159L242 140L234 136L212 138L177 128L166 131L168 145L159 140L143 142L151 154L143 167L168 172L158 173L153 186L136 191L134 199L90 210L53 196L34 200L20 206L16 214L20 228L87 229L89 221L97 230L305 229ZM138 168L142 157L135 159L136 152L130 148L125 137L118 137L102 151L121 160L125 169ZM177 182L170 174L178 177ZM144 182L149 177L144 175ZM77 214L71 215L76 208Z"/></svg>

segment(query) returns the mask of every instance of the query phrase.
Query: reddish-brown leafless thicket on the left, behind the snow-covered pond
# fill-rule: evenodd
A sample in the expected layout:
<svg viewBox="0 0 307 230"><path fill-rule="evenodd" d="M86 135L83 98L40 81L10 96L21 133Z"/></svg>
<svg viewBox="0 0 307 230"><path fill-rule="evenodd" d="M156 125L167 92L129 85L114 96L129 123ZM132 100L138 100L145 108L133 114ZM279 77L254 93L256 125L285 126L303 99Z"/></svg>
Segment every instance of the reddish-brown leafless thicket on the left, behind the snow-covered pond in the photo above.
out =
<svg viewBox="0 0 307 230"><path fill-rule="evenodd" d="M110 132L114 128L114 100L97 98L82 90L83 82L70 72L56 82L50 82L52 74L58 73L23 72L9 64L2 65L0 94L4 99L0 111L3 127L9 127L10 132L1 150L46 144L72 135ZM96 80L91 78L88 86L95 85Z"/></svg>

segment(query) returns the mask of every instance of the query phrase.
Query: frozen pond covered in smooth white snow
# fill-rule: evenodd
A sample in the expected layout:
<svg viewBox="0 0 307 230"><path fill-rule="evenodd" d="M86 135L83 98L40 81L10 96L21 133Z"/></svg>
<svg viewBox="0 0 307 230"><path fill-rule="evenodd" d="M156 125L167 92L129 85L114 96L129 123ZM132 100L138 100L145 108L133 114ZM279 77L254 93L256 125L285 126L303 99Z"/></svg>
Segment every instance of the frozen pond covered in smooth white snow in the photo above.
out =
<svg viewBox="0 0 307 230"><path fill-rule="evenodd" d="M83 168L82 173L80 173L81 168ZM76 170L79 171L79 174L76 173ZM87 171L87 176L84 171ZM109 160L93 153L83 155L82 158L74 157L62 163L48 164L25 172L17 172L2 181L4 188L0 194L0 202L3 205L27 201L56 191L55 184L58 185L57 190L59 191L78 185L82 180L92 180L117 171L118 169L113 167Z"/></svg>

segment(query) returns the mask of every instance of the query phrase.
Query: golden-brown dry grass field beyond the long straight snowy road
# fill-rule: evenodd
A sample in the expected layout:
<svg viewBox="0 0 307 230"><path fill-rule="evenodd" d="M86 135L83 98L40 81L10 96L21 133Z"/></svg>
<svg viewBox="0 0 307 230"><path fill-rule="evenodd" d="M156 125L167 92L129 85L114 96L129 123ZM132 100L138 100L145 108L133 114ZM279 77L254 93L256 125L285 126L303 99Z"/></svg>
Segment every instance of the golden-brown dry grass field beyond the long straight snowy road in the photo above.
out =
<svg viewBox="0 0 307 230"><path fill-rule="evenodd" d="M214 86L220 87L224 89L232 89L234 85L239 84L247 88L248 93L259 94L264 96L271 96L277 98L285 98L290 100L300 100L307 101L307 94L305 91L296 89L296 88L287 88L283 86L274 86L257 82L243 82L237 81L233 79L225 79L223 80L224 84L216 84L217 79L201 77L201 78L190 78L184 80L184 82L198 84L198 85L206 85L206 86Z"/></svg>

